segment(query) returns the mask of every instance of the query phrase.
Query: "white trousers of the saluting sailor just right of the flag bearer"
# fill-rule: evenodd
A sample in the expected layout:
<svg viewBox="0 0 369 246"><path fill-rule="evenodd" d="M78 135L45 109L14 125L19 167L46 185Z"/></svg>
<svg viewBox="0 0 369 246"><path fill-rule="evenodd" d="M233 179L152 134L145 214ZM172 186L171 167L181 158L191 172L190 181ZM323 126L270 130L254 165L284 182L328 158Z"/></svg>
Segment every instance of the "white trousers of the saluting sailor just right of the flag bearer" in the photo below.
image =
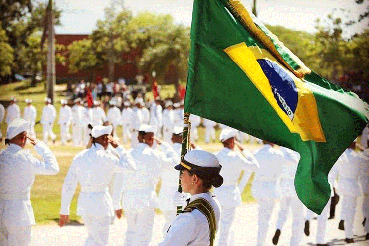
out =
<svg viewBox="0 0 369 246"><path fill-rule="evenodd" d="M233 220L235 218L235 207L223 207L219 223L219 246L233 246Z"/></svg>

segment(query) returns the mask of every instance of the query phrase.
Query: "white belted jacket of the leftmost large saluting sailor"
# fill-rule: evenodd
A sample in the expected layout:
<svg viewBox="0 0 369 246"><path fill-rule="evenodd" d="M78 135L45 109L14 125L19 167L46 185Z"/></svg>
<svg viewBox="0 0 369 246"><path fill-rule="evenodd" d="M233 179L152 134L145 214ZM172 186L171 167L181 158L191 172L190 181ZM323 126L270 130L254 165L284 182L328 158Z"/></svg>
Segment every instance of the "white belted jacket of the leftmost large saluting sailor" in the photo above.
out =
<svg viewBox="0 0 369 246"><path fill-rule="evenodd" d="M0 154L0 226L34 225L30 201L34 176L59 172L57 159L45 143L38 142L34 149L44 161L16 144Z"/></svg>

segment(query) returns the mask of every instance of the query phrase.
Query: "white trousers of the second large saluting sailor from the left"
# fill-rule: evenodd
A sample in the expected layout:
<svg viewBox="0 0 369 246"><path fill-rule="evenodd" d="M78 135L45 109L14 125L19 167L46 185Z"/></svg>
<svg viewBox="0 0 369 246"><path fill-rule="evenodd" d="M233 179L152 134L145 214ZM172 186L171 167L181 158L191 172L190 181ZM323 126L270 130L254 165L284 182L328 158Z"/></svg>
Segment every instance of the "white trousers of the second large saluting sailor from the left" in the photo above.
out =
<svg viewBox="0 0 369 246"><path fill-rule="evenodd" d="M85 215L82 219L88 234L84 246L107 246L111 217Z"/></svg>

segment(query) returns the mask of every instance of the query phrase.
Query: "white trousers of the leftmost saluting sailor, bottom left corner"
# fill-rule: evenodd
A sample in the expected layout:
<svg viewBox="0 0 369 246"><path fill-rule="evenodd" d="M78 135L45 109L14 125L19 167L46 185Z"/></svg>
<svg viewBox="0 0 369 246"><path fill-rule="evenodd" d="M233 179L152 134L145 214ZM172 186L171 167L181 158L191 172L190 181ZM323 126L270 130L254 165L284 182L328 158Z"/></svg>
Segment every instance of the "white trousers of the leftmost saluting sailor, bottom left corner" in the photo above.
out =
<svg viewBox="0 0 369 246"><path fill-rule="evenodd" d="M0 226L0 246L28 246L31 226Z"/></svg>

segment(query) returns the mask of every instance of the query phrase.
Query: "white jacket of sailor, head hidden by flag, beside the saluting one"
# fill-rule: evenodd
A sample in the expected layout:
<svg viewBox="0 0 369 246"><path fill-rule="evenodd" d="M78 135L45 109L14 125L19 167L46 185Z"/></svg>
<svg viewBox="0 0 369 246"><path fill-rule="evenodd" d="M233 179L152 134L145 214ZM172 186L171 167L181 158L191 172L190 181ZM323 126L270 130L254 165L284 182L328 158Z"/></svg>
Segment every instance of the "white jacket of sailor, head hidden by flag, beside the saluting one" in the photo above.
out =
<svg viewBox="0 0 369 246"><path fill-rule="evenodd" d="M279 199L279 179L284 162L283 152L265 144L255 154L260 169L256 170L251 193L254 198Z"/></svg>

